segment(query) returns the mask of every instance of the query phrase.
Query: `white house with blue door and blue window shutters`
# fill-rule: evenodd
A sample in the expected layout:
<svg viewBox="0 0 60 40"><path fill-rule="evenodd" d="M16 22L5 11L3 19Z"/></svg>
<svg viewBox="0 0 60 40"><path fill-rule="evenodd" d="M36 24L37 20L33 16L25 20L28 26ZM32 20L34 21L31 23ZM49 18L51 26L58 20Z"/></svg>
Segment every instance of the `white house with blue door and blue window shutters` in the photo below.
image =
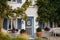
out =
<svg viewBox="0 0 60 40"><path fill-rule="evenodd" d="M12 7L12 9L16 9L17 7L20 7L25 3L26 0L8 0L7 3L9 6ZM32 5L29 6L26 10L26 14L28 16L28 21L25 22L20 17L17 17L16 19L10 18L10 19L4 19L3 22L3 29L8 31L15 27L15 29L21 30L25 29L27 31L27 34L31 37L34 37L34 33L36 33L36 28L38 26L41 26L44 28L45 24L42 22L36 22L37 18L37 7L35 7L35 1L36 0L28 0L31 1ZM39 24L39 25L38 25ZM49 26L50 25L50 26ZM49 27L53 28L53 23L49 23Z"/></svg>

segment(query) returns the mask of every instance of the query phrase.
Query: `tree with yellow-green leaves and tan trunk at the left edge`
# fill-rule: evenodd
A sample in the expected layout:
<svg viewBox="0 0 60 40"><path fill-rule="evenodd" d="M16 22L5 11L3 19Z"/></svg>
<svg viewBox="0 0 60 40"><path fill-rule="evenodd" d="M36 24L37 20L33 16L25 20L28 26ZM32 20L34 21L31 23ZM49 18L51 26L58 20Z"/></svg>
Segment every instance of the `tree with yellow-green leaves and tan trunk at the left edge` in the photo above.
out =
<svg viewBox="0 0 60 40"><path fill-rule="evenodd" d="M7 0L0 0L0 32L4 18L7 18L9 15L12 15L12 9L8 6Z"/></svg>

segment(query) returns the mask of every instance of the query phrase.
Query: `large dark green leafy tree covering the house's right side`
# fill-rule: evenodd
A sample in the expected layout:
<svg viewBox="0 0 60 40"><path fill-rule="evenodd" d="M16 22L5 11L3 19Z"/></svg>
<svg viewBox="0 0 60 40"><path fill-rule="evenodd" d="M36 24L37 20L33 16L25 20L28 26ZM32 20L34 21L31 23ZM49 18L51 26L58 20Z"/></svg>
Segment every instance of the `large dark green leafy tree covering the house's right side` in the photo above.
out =
<svg viewBox="0 0 60 40"><path fill-rule="evenodd" d="M58 8L60 8L60 1L58 0L37 0L38 6L38 20L42 22L59 22L60 15ZM59 5L59 6L57 6Z"/></svg>

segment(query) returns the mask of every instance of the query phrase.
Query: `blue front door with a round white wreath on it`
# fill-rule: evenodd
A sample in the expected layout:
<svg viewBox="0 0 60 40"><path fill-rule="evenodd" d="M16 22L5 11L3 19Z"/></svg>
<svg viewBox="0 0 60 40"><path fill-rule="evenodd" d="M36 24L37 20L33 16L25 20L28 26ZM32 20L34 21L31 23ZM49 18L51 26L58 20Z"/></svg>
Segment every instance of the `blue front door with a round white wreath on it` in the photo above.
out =
<svg viewBox="0 0 60 40"><path fill-rule="evenodd" d="M30 37L34 37L34 17L28 17L27 22L25 23L25 28L27 31L27 34Z"/></svg>

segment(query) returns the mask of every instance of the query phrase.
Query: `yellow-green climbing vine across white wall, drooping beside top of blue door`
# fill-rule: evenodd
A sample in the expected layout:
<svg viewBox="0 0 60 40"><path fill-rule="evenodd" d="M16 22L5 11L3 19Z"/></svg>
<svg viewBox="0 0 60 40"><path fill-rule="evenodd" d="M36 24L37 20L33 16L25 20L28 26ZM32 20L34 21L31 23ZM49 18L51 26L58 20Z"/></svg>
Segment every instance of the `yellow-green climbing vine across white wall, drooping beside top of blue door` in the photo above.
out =
<svg viewBox="0 0 60 40"><path fill-rule="evenodd" d="M25 11L27 10L27 8L31 5L30 1L25 1L25 3L22 5L21 8L17 8L13 10L13 13L16 13L16 16L14 16L14 18L16 18L17 16L21 16L21 18L23 20L27 20L27 15L25 13Z"/></svg>

